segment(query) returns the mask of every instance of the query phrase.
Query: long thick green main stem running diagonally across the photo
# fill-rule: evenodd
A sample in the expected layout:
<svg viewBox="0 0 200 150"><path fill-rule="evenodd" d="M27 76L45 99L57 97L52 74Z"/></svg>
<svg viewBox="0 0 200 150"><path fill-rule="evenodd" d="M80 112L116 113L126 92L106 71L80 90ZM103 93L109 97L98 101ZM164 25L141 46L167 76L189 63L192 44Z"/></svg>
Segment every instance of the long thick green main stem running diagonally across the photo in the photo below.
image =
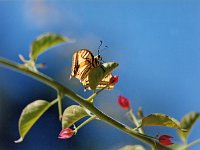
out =
<svg viewBox="0 0 200 150"><path fill-rule="evenodd" d="M37 73L37 72L33 72L31 70L28 70L27 68L24 68L22 65L17 64L15 62L9 61L7 59L1 58L0 57L0 64L5 66L5 67L9 67L11 69L14 69L18 72L21 72L23 74L26 74L28 76L31 76L34 79L37 79L47 85L49 85L50 87L56 89L57 91L63 93L65 96L73 99L75 102L79 103L80 105L84 106L85 108L87 108L88 110L90 110L94 115L96 115L100 120L114 126L115 128L145 142L148 143L149 145L151 145L151 147L153 149L157 148L162 148L165 150L169 150L169 148L160 145L159 143L157 143L157 146L155 147L155 142L152 139L149 139L147 137L144 137L142 134L133 131L131 128L129 128L128 126L114 120L113 118L109 117L108 115L106 115L105 113L101 112L99 109L97 109L95 106L93 106L90 102L86 101L84 98L82 98L81 96L79 96L78 94L74 93L73 91L71 91L70 89L64 87L63 85L57 83L55 80L53 80L52 78L42 74L42 73Z"/></svg>

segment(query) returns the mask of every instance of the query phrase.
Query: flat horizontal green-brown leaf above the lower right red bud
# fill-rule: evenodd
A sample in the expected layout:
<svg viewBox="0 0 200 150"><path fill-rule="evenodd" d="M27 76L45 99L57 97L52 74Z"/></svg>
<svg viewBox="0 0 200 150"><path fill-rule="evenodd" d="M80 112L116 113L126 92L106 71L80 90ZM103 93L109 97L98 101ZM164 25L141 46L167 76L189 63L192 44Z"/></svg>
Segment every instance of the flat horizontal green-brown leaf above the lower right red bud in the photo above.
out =
<svg viewBox="0 0 200 150"><path fill-rule="evenodd" d="M181 129L179 121L165 114L151 114L142 119L142 126L165 126Z"/></svg>

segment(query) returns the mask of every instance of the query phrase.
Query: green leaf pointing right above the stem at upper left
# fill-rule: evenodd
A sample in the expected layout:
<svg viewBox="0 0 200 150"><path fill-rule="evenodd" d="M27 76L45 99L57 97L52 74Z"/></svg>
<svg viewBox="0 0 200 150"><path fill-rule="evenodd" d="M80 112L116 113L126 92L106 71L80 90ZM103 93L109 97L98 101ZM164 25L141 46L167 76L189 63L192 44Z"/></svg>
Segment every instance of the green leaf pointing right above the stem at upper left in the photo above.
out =
<svg viewBox="0 0 200 150"><path fill-rule="evenodd" d="M54 33L46 33L39 36L32 42L30 59L36 61L37 57L47 49L56 46L63 42L68 42L69 39Z"/></svg>

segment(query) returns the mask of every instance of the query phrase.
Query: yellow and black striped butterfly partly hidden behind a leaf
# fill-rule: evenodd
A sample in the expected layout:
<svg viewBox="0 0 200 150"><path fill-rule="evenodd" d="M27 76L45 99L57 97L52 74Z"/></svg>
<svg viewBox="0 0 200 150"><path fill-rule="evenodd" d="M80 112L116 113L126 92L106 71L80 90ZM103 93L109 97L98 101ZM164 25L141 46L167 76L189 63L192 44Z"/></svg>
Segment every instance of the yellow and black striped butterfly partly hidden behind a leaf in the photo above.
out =
<svg viewBox="0 0 200 150"><path fill-rule="evenodd" d="M101 64L102 57L99 54L94 57L91 51L80 49L73 54L70 78L75 77L79 79L85 89L91 89L89 85L89 73L93 68L96 68ZM102 81L99 82L96 88L104 88L107 86L107 89L113 89L114 85L109 85L112 77L113 75L108 73Z"/></svg>

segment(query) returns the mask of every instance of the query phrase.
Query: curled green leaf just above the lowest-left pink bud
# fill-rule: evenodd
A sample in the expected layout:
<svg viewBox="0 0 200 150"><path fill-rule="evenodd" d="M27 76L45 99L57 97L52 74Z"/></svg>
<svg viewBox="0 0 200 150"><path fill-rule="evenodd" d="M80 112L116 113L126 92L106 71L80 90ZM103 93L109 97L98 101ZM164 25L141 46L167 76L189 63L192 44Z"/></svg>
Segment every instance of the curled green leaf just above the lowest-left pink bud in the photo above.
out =
<svg viewBox="0 0 200 150"><path fill-rule="evenodd" d="M68 128L81 118L88 116L88 113L78 105L67 107L62 116L62 128Z"/></svg>

